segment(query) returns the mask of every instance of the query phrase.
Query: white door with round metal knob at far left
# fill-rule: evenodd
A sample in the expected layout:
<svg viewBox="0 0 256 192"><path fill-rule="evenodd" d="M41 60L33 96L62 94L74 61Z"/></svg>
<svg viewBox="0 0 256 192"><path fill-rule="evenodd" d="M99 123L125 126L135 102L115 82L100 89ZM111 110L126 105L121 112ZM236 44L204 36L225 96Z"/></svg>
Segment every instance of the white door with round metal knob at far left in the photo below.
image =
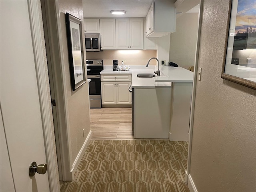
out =
<svg viewBox="0 0 256 192"><path fill-rule="evenodd" d="M1 164L1 180L4 178L2 168L11 166L16 191L47 192L50 191L47 172L44 175L36 173L34 177L28 174L31 162L46 163L28 2L18 0L0 3L0 98L10 157L9 164ZM5 187L2 184L1 181L0 191Z"/></svg>

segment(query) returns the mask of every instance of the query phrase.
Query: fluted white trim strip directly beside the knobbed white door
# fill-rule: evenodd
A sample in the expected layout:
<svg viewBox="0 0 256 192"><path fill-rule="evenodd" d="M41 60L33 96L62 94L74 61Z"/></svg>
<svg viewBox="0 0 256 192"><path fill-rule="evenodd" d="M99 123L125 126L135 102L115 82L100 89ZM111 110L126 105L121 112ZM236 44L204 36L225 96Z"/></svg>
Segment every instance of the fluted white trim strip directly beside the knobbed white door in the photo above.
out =
<svg viewBox="0 0 256 192"><path fill-rule="evenodd" d="M42 128L44 134L44 145L46 150L46 161L48 164L48 180L50 191L59 191L58 167L56 162L55 138L52 125L52 108L49 100L49 82L48 74L44 65L44 36L42 36L42 28L40 26L39 11L40 2L28 0L28 12L30 18L30 30L32 35L32 45L34 51L34 60L36 68L36 78L38 84L38 94L42 118Z"/></svg>

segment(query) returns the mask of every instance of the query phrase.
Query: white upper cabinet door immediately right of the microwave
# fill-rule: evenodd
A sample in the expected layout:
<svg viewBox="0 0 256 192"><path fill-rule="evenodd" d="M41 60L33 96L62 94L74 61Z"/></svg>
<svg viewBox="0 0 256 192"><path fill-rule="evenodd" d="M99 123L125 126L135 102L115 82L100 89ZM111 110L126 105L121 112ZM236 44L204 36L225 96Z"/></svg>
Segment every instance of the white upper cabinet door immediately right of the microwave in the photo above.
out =
<svg viewBox="0 0 256 192"><path fill-rule="evenodd" d="M100 19L101 50L116 49L116 20Z"/></svg>

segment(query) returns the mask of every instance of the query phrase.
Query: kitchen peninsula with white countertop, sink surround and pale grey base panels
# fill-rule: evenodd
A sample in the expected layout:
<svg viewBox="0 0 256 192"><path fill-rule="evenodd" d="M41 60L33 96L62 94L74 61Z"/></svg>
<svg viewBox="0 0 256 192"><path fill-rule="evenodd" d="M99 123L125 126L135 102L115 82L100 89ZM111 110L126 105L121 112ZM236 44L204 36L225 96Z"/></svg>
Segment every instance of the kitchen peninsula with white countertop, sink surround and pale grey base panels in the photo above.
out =
<svg viewBox="0 0 256 192"><path fill-rule="evenodd" d="M132 75L134 138L187 141L193 72L162 66L160 76L154 78L138 78L139 73L154 74L145 66L131 66L128 71L104 68L100 73Z"/></svg>

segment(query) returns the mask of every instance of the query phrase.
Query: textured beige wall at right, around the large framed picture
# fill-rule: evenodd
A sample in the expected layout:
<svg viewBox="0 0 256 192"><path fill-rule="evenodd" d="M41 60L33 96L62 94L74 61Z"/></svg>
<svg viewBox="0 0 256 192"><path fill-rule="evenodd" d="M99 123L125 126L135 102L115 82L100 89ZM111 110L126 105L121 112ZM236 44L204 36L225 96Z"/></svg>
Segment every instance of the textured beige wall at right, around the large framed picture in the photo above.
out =
<svg viewBox="0 0 256 192"><path fill-rule="evenodd" d="M256 90L223 80L228 1L204 1L190 174L198 192L256 189Z"/></svg>

